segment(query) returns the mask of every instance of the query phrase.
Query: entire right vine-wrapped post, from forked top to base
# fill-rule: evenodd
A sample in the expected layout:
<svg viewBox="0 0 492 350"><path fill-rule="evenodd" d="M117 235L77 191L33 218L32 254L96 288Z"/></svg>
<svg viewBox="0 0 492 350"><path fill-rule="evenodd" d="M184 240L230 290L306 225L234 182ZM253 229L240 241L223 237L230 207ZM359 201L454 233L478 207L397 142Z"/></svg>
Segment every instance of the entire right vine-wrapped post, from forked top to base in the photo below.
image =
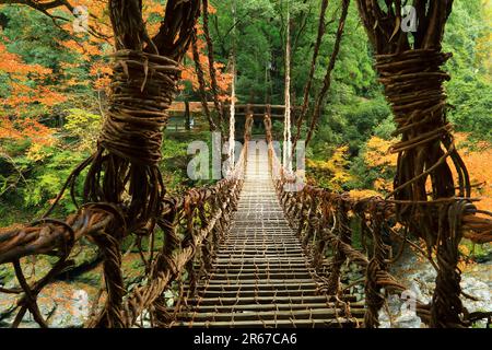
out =
<svg viewBox="0 0 492 350"><path fill-rule="evenodd" d="M358 0L359 12L376 51L379 82L397 124L394 135L401 136L401 141L391 148L391 152L398 153L395 189L390 194L397 205L397 219L425 240L429 254L437 246L437 260L452 264L437 272L433 327L456 327L462 316L459 273L452 280L444 277L449 269L457 270L457 260L445 258L458 254L457 245L448 244L454 240L452 228L440 218L440 211L443 203L456 201L455 188L459 197L470 196L468 173L446 120L443 82L449 80L449 75L441 69L450 57L441 51L441 42L452 4L452 0L415 1L418 26L415 32L409 32L401 26L401 1L380 4L376 0ZM455 186L449 160L458 174L458 186ZM454 302L440 302L446 299Z"/></svg>

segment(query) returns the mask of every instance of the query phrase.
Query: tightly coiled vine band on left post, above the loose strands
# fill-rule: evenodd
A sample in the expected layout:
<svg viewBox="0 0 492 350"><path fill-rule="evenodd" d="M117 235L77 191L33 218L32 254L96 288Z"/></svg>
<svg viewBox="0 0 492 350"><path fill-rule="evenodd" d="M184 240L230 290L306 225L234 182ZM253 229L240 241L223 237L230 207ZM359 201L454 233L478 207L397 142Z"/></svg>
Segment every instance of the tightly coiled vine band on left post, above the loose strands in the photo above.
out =
<svg viewBox="0 0 492 350"><path fill-rule="evenodd" d="M164 56L133 50L113 54L109 110L99 144L133 163L161 160L162 130L177 89L178 63Z"/></svg>

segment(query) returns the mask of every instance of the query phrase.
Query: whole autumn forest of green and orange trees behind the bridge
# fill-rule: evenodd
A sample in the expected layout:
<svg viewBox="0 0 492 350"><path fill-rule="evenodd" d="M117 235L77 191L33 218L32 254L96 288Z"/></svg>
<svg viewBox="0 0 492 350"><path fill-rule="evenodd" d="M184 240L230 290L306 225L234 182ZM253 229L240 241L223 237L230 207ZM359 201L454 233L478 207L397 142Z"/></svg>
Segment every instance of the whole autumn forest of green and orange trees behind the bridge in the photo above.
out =
<svg viewBox="0 0 492 350"><path fill-rule="evenodd" d="M98 144L110 94L114 37L106 0L74 2L79 11L83 9L75 15L73 9L39 11L22 1L0 0L0 226L33 221L55 202L54 213L66 217L82 201L82 180L73 194L57 197L73 168ZM143 1L150 36L159 33L166 2ZM324 3L325 35L317 45ZM294 109L301 108L307 92L308 117L300 124L300 140L305 139L317 96L326 88L342 1L210 0L208 14L208 23L199 20L196 42L184 55L175 101L207 98L211 103L218 89L221 103L234 98L237 104L283 105L290 67ZM204 25L213 42L212 52ZM306 150L307 180L335 192L384 197L394 186L397 154L389 150L398 137L355 1L349 5L338 44L329 89ZM317 65L309 82L316 48ZM470 173L473 197L480 198L481 209L492 211L492 1L455 0L442 50L453 54L444 65L452 78L445 82L446 116ZM306 90L306 83L312 88ZM233 84L235 97L231 97ZM213 108L210 113L211 120L227 130L220 113ZM202 127L192 130L164 130L159 168L168 195L214 182L187 176L189 142L212 142L213 128L207 118L199 113L196 124ZM186 120L178 115L173 122L184 126ZM282 139L283 129L284 124L274 120L277 139ZM262 128L253 130L263 132ZM489 260L491 252L490 244L465 242L460 246L467 262Z"/></svg>

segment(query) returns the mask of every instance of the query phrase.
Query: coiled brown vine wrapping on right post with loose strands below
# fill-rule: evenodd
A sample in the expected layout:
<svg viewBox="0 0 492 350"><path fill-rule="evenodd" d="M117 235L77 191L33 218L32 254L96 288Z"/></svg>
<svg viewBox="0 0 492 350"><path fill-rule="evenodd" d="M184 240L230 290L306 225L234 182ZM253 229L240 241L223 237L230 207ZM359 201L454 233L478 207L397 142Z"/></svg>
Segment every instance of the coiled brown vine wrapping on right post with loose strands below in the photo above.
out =
<svg viewBox="0 0 492 350"><path fill-rule="evenodd" d="M455 185L448 164L452 161L458 174L458 196L470 196L468 172L456 151L445 116L443 82L449 75L440 67L449 57L432 49L376 56L379 81L398 125L394 135L401 135L401 141L391 148L391 152L398 153L398 165L395 190L388 197L400 201L399 220L413 228L427 246L436 241L437 226L430 219L437 217L436 207L417 203L427 201L427 179L432 180L433 199L453 200Z"/></svg>

